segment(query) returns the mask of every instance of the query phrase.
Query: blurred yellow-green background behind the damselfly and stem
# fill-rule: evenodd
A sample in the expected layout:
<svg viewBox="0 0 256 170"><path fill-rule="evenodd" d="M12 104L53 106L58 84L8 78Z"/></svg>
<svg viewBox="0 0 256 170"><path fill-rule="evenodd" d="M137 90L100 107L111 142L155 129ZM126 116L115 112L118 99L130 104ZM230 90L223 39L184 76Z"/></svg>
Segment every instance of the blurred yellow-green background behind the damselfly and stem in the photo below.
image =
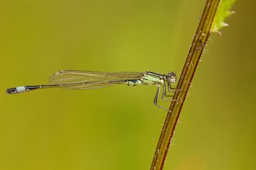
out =
<svg viewBox="0 0 256 170"><path fill-rule="evenodd" d="M212 34L164 169L256 169L255 4L237 1ZM204 5L1 1L0 169L149 169L166 116L156 87L5 90L63 69L179 76Z"/></svg>

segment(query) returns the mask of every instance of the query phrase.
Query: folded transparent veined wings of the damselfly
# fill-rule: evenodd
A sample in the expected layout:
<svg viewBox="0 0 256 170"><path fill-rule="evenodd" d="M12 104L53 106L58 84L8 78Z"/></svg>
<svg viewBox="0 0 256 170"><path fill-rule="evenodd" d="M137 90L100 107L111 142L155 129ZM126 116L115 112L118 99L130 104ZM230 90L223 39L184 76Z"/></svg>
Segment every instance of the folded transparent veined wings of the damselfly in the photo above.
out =
<svg viewBox="0 0 256 170"><path fill-rule="evenodd" d="M64 89L97 89L115 84L126 83L127 80L139 80L144 73L64 70L52 74L51 85Z"/></svg>

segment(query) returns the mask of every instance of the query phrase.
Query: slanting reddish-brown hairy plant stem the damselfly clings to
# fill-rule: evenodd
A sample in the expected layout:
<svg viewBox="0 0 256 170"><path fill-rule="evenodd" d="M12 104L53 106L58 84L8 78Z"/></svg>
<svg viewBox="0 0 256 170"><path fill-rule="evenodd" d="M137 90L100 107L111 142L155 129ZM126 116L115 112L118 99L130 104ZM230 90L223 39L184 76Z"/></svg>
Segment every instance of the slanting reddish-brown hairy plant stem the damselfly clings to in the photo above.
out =
<svg viewBox="0 0 256 170"><path fill-rule="evenodd" d="M179 83L177 85L177 90L173 96L172 103L170 104L170 111L172 112L168 112L163 125L151 165L152 170L163 169L164 160L166 159L180 111L187 96L187 92L195 74L201 54L204 50L205 43L210 36L212 20L214 19L219 3L220 0L207 0L207 3L205 4L204 13L184 64Z"/></svg>

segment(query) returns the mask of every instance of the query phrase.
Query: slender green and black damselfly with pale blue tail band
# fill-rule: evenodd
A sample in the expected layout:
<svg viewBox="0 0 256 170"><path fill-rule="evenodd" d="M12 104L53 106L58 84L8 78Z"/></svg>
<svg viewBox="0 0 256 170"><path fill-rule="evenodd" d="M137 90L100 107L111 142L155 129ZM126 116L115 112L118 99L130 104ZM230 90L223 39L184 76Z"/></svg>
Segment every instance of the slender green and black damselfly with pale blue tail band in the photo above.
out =
<svg viewBox="0 0 256 170"><path fill-rule="evenodd" d="M176 82L176 75L173 72L165 74L157 74L150 71L144 73L136 72L113 72L105 73L99 71L74 71L64 70L59 71L49 78L50 85L32 85L32 86L20 86L6 90L7 94L19 94L21 92L28 92L36 89L45 89L52 87L60 87L63 89L97 89L101 87L108 87L116 84L127 84L129 86L134 85L157 85L156 96L154 98L154 104L163 110L169 111L166 108L158 105L158 97L161 85L163 85L162 99L164 101L170 101L170 99L164 99L166 95L166 83L168 91L172 92L171 84Z"/></svg>

